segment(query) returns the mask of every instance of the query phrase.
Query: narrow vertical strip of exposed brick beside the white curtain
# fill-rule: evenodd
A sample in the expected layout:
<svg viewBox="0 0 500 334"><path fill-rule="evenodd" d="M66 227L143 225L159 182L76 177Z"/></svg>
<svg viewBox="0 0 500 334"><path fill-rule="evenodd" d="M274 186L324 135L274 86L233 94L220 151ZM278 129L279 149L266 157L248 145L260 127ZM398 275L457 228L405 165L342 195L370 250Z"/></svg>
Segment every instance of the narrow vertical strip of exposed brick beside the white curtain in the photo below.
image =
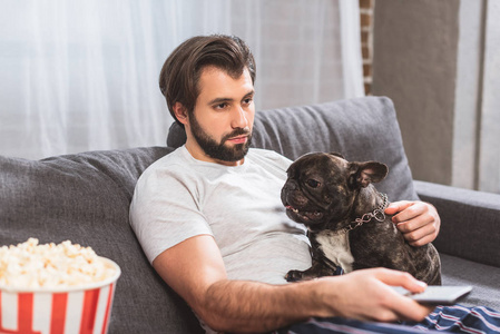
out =
<svg viewBox="0 0 500 334"><path fill-rule="evenodd" d="M373 8L375 0L360 1L361 55L363 56L364 92L372 91Z"/></svg>

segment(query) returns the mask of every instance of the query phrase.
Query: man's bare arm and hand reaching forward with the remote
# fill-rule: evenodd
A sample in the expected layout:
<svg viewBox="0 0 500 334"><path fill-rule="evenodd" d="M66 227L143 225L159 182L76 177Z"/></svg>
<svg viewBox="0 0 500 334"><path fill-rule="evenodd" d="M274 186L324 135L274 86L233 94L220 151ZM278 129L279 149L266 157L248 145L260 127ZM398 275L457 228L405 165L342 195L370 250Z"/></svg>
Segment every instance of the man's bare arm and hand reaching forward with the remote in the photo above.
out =
<svg viewBox="0 0 500 334"><path fill-rule="evenodd" d="M213 330L264 332L311 316L371 321L421 321L430 310L388 285L421 292L409 274L383 268L343 276L269 285L227 278L212 236L192 237L153 262L155 269Z"/></svg>

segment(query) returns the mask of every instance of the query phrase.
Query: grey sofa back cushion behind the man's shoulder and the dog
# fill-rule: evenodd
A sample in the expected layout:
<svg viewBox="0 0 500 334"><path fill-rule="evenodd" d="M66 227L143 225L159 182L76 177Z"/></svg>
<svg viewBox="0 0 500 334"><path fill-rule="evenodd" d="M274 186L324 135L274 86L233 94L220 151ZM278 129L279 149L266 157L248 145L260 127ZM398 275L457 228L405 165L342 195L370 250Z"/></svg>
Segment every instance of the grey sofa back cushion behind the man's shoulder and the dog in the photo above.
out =
<svg viewBox="0 0 500 334"><path fill-rule="evenodd" d="M173 124L170 147L186 141ZM336 151L347 160L378 160L389 176L375 185L390 200L418 199L394 105L385 97L364 97L321 105L280 108L255 115L253 147L275 150L290 159L311 151Z"/></svg>

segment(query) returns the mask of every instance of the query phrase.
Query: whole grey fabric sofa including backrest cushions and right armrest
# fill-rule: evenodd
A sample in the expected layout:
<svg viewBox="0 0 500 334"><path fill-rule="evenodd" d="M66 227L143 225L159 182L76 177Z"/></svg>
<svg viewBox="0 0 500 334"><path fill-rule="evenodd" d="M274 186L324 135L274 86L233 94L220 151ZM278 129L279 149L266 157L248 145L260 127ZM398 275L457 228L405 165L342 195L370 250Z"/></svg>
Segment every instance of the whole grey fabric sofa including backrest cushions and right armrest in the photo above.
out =
<svg viewBox="0 0 500 334"><path fill-rule="evenodd" d="M153 161L185 140L173 126L168 147L90 151L42 160L0 157L0 245L38 237L91 246L121 267L110 333L200 333L185 303L159 278L128 224L134 186ZM500 310L500 195L413 181L390 99L366 97L257 111L255 147L292 159L339 151L350 160L390 167L378 188L390 200L435 205L442 217L435 246L448 285L473 285L465 305Z"/></svg>

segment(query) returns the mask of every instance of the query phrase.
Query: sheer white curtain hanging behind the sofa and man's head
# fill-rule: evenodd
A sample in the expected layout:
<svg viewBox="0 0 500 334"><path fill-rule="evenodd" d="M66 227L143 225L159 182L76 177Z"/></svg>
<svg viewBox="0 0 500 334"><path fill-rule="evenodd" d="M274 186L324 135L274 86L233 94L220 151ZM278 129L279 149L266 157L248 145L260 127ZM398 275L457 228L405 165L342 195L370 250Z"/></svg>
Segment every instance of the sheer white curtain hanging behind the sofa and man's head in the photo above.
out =
<svg viewBox="0 0 500 334"><path fill-rule="evenodd" d="M166 57L233 33L257 62L257 110L363 96L352 0L2 0L0 155L165 145Z"/></svg>

